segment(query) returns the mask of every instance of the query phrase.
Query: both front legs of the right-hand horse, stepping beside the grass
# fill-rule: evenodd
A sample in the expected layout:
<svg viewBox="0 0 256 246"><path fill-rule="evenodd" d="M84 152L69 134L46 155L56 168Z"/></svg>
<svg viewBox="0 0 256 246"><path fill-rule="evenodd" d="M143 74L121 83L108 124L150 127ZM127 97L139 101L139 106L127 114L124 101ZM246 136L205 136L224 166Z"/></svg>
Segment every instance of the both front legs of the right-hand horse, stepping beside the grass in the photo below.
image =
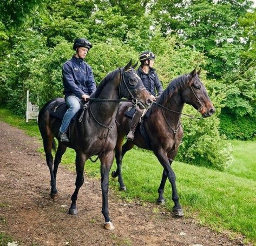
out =
<svg viewBox="0 0 256 246"><path fill-rule="evenodd" d="M160 163L164 169L162 181L161 181L160 187L159 187L160 199L162 198L161 195L163 194L165 182L168 177L170 184L172 185L172 200L174 201L173 213L177 216L183 216L184 213L183 213L181 204L179 202L179 196L178 196L178 192L177 192L177 188L176 188L176 176L175 176L175 173L173 172L172 167L170 166L172 161L168 158L167 153L163 150L156 153L156 157L160 161Z"/></svg>

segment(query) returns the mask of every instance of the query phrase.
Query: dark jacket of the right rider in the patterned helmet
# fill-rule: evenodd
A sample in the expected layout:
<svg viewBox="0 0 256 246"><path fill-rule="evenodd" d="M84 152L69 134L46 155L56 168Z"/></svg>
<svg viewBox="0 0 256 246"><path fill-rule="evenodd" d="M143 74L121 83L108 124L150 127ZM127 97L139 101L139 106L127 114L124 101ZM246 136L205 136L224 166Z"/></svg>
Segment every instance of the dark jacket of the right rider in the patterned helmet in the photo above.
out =
<svg viewBox="0 0 256 246"><path fill-rule="evenodd" d="M149 69L149 73L145 73L142 70L142 66L139 67L137 70L137 74L140 76L143 85L146 87L147 91L156 96L155 88L157 91L157 96L161 95L163 93L163 87L162 84L157 77L157 74L154 69Z"/></svg>

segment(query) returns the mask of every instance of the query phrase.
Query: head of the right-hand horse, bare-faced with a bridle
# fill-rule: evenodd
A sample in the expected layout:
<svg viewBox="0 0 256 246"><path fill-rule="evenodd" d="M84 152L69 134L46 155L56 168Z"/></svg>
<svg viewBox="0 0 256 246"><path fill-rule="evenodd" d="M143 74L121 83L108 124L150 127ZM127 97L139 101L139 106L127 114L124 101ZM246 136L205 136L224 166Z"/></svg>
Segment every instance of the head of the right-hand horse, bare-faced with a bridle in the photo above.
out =
<svg viewBox="0 0 256 246"><path fill-rule="evenodd" d="M206 118L214 114L215 108L208 96L206 88L200 79L200 72L195 69L187 74L188 87L182 91L182 99L198 110L202 117Z"/></svg>

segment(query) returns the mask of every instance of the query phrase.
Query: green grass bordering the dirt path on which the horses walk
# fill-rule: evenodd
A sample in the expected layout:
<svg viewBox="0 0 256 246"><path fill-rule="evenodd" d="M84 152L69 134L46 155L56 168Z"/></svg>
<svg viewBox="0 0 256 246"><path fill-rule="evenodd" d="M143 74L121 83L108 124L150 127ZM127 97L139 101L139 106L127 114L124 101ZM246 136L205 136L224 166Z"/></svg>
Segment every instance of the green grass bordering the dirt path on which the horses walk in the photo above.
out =
<svg viewBox="0 0 256 246"><path fill-rule="evenodd" d="M38 136L35 122L27 125L4 111L0 120L7 117L11 125L25 129L30 135ZM34 124L34 125L33 125ZM185 215L196 217L202 224L208 224L217 231L231 230L241 233L256 245L256 141L232 141L234 165L226 172L192 166L174 161L176 184ZM41 149L42 151L42 149ZM62 163L75 169L75 154L69 149ZM114 162L111 170L116 168ZM134 148L123 159L123 178L127 192L119 192L119 184L110 178L110 187L127 200L139 199L155 202L162 167L152 153ZM100 163L87 161L89 177L100 177ZM167 181L165 188L166 208L171 210L171 188Z"/></svg>

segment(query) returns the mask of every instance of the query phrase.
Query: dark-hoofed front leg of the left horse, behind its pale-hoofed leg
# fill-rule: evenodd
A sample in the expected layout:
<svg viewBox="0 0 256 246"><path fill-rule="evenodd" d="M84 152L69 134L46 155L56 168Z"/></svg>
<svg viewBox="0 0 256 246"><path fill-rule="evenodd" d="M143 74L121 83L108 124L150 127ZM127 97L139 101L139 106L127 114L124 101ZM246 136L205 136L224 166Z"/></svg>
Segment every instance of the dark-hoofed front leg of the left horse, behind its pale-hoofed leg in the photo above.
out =
<svg viewBox="0 0 256 246"><path fill-rule="evenodd" d="M79 189L83 185L84 177L83 177L83 170L84 170L84 162L86 162L86 155L82 152L76 153L76 189L73 195L71 196L71 206L69 208L69 214L76 215L78 213L77 207L76 207L76 200L77 195L79 192Z"/></svg>

